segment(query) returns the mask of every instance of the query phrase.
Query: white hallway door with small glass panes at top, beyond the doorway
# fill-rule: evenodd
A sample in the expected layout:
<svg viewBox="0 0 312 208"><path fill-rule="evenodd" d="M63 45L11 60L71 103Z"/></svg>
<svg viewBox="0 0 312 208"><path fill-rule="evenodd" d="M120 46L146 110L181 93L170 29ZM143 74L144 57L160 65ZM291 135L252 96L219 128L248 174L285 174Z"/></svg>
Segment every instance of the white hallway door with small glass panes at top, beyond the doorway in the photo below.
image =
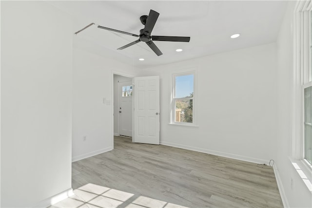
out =
<svg viewBox="0 0 312 208"><path fill-rule="evenodd" d="M119 82L119 135L132 137L132 81Z"/></svg>

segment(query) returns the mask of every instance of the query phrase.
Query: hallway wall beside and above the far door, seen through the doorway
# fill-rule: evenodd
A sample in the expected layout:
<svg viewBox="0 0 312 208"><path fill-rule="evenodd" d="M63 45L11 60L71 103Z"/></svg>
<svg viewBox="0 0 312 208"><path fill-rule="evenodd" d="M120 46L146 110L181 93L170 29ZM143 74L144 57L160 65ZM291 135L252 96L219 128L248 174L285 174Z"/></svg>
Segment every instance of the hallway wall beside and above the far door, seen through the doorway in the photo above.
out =
<svg viewBox="0 0 312 208"><path fill-rule="evenodd" d="M114 134L119 135L119 109L118 109L118 81L125 82L131 81L131 77L114 75Z"/></svg>

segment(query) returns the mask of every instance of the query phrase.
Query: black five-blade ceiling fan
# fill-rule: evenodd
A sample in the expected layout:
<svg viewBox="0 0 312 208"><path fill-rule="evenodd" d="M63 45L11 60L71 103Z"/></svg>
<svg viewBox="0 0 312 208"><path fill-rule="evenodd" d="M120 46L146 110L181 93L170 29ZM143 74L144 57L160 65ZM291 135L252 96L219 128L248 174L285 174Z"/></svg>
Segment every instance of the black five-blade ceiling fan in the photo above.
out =
<svg viewBox="0 0 312 208"><path fill-rule="evenodd" d="M133 41L125 46L122 46L120 48L117 48L117 50L122 50L125 48L128 48L129 46L132 46L134 44L137 44L138 42L145 42L155 53L157 56L162 55L161 51L157 48L154 41L175 41L175 42L190 42L190 37L180 37L180 36L152 36L151 33L153 31L153 28L155 26L156 20L159 16L159 13L155 12L154 10L150 10L150 14L143 15L140 17L140 21L144 26L143 29L140 30L140 35L132 34L123 32L120 30L111 29L108 27L99 26L98 28L104 29L104 30L110 30L117 33L122 33L129 36L138 37L136 41Z"/></svg>

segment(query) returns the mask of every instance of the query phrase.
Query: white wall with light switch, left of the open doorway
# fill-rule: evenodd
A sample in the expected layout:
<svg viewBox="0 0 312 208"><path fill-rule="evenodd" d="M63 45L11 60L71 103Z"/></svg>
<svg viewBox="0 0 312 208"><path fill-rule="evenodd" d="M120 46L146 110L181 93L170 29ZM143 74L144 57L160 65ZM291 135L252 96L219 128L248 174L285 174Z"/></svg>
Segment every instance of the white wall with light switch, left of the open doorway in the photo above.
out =
<svg viewBox="0 0 312 208"><path fill-rule="evenodd" d="M81 49L82 41L74 38L73 161L113 149L113 74L136 76L140 72Z"/></svg>

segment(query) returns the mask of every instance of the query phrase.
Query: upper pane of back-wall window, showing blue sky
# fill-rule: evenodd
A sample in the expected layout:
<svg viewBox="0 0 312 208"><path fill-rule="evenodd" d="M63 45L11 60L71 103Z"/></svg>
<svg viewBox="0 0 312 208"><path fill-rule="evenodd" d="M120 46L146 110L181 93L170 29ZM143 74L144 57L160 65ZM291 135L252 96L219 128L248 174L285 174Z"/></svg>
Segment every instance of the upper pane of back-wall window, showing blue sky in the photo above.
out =
<svg viewBox="0 0 312 208"><path fill-rule="evenodd" d="M176 76L175 97L193 97L194 75Z"/></svg>

